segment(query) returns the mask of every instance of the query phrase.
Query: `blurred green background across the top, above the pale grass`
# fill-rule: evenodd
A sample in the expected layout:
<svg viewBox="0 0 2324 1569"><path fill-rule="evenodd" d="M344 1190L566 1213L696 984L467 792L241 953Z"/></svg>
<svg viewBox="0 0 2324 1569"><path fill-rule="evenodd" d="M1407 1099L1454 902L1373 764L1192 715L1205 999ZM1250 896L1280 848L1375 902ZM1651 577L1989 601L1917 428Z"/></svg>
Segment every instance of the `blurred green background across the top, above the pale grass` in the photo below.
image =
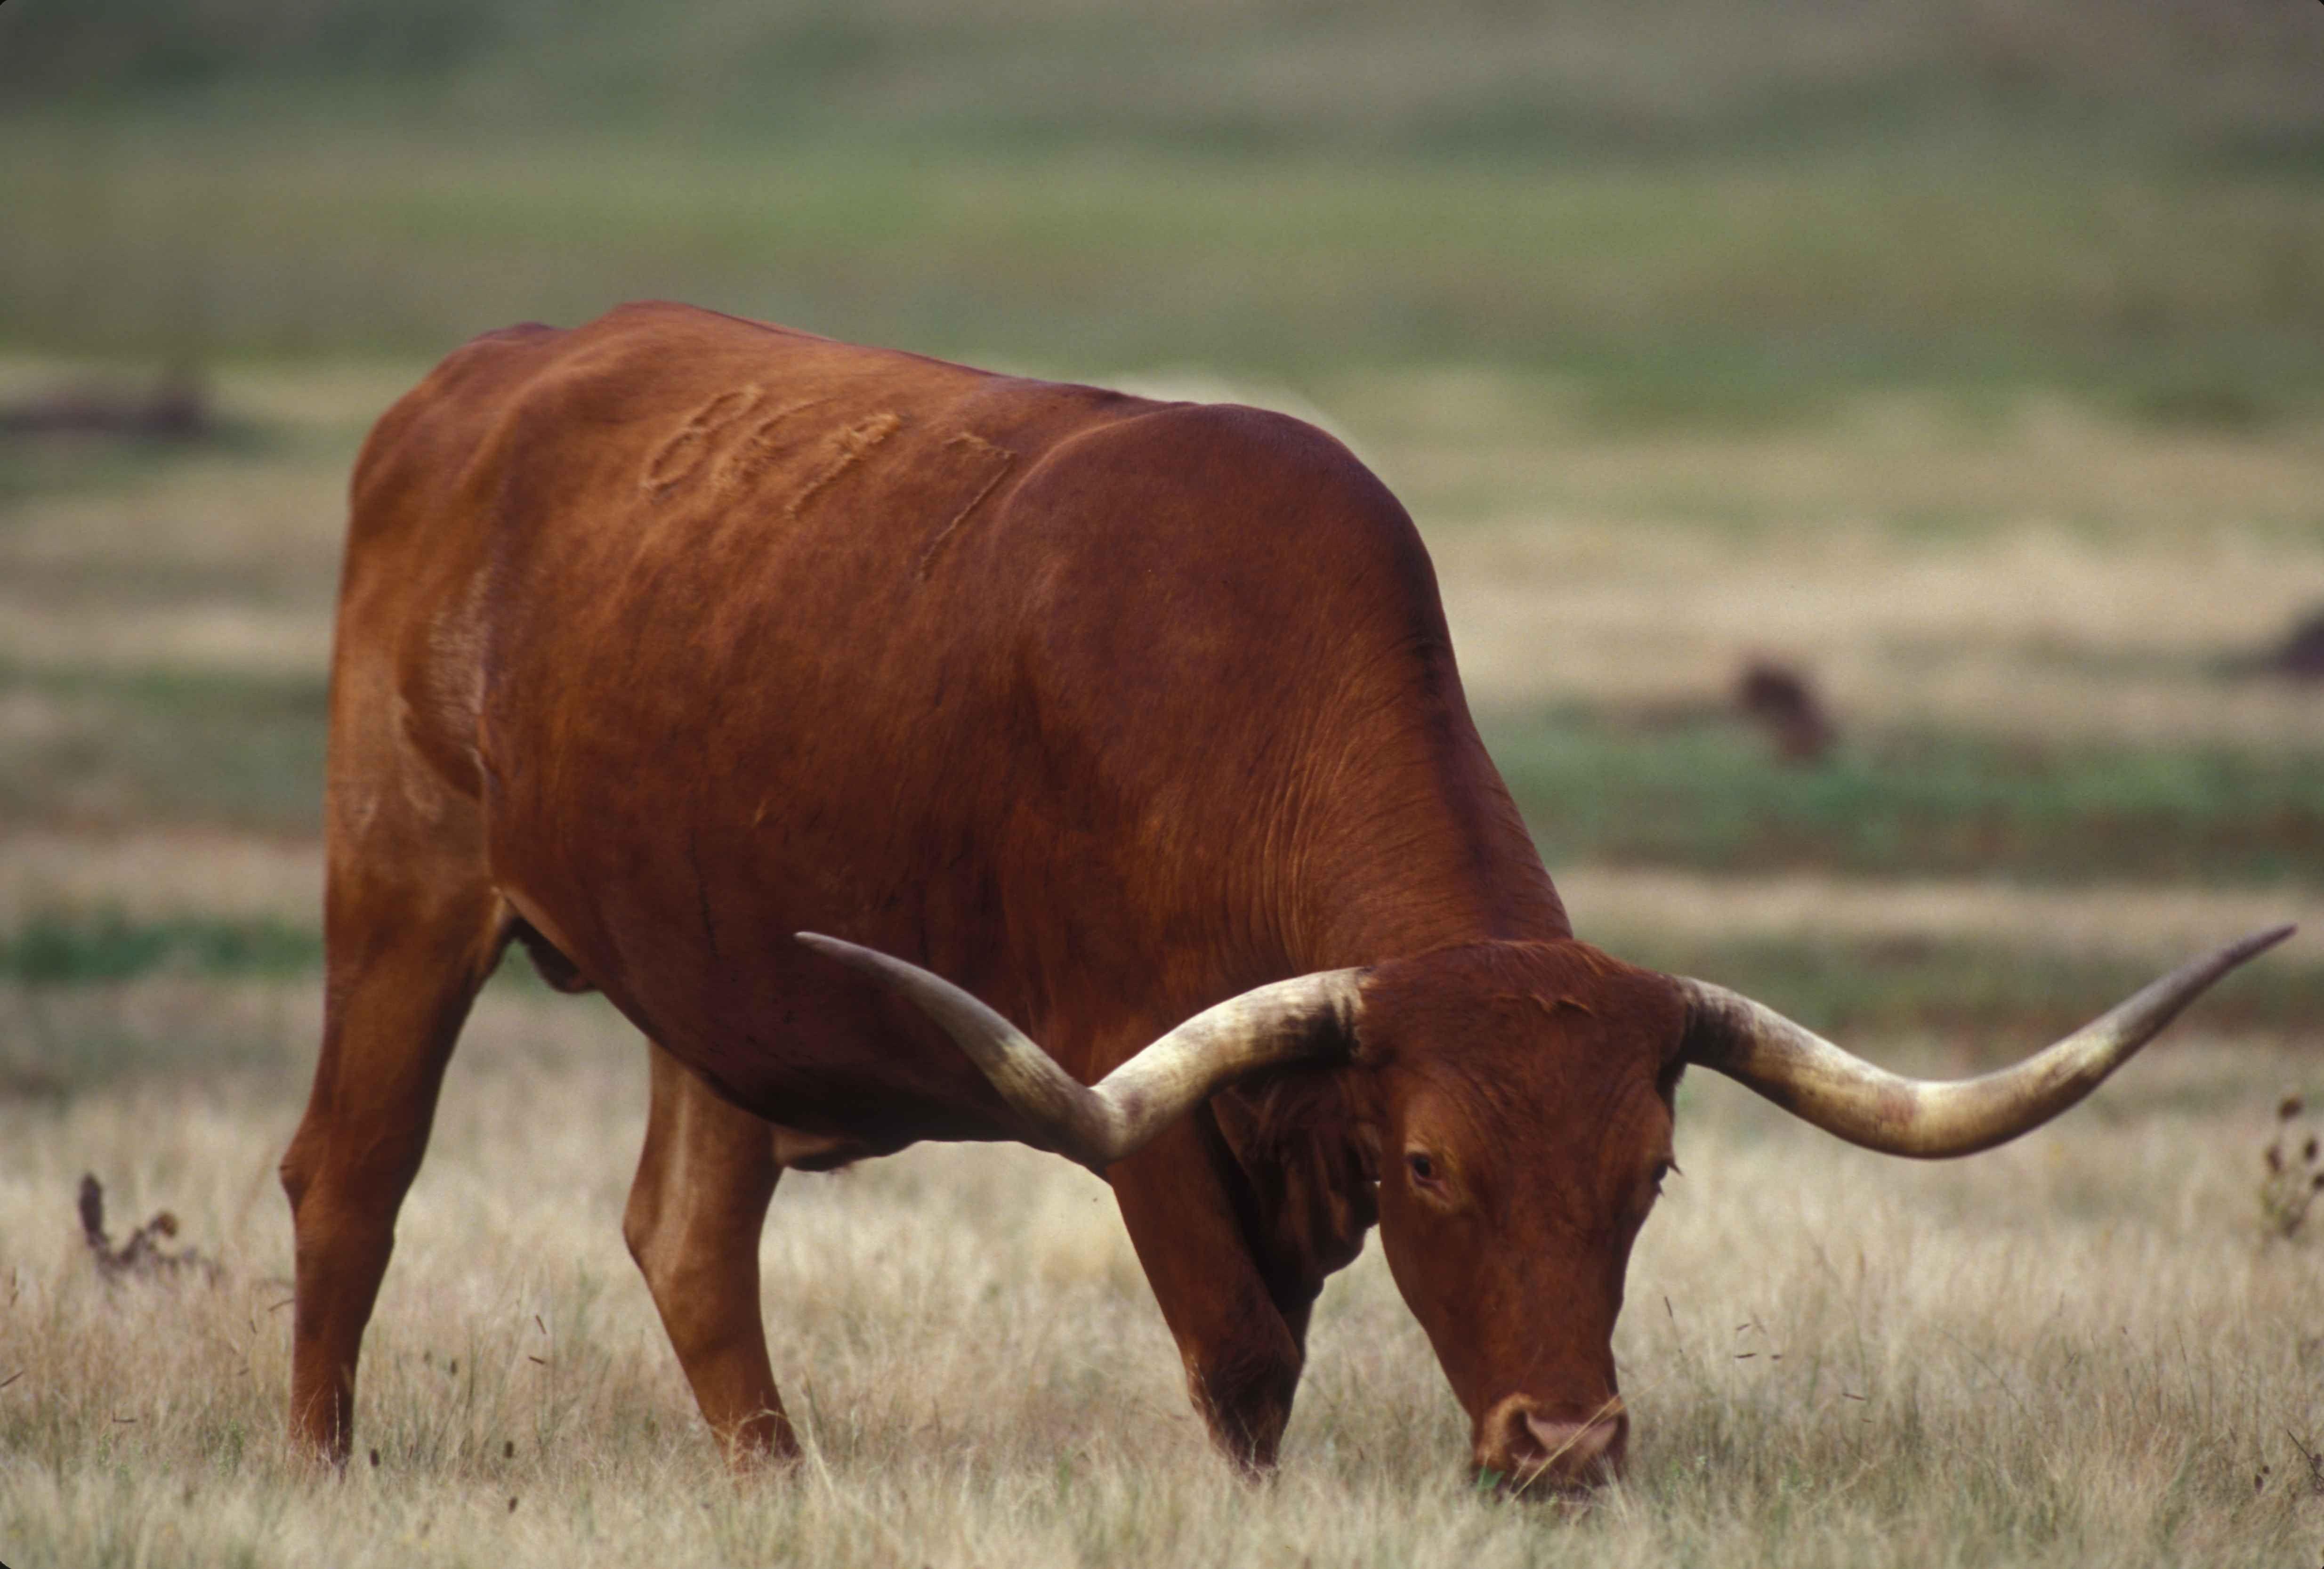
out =
<svg viewBox="0 0 2324 1569"><path fill-rule="evenodd" d="M1615 418L2324 391L2291 0L12 0L0 342L437 353L676 295Z"/></svg>

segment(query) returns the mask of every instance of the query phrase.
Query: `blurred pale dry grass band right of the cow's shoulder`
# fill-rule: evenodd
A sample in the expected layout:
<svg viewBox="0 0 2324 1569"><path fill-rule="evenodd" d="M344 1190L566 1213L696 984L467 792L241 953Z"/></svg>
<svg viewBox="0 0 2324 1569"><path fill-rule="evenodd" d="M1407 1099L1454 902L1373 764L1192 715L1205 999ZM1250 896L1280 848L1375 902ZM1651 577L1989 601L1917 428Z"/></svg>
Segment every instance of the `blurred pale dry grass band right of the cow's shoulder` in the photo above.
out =
<svg viewBox="0 0 2324 1569"><path fill-rule="evenodd" d="M1622 437L1492 372L1332 402L1429 530L1480 707L1690 700L1764 651L1843 725L2324 739L2312 690L2238 676L2324 604L2315 430L1871 397L1813 430Z"/></svg>

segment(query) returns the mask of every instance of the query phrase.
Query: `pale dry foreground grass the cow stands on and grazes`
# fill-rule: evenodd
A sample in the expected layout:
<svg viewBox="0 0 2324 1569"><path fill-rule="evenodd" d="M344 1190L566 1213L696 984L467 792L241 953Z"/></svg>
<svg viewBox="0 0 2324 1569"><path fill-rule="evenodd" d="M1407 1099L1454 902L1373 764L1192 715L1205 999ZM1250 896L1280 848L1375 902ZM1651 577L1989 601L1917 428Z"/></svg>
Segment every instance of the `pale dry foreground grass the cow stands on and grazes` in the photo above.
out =
<svg viewBox="0 0 2324 1569"><path fill-rule="evenodd" d="M456 1062L358 1462L304 1476L279 1453L272 1165L309 1025L307 997L253 1025L274 1069L0 1106L9 1562L2282 1564L2324 1541L2289 1441L2324 1437L2324 1253L2266 1244L2257 1197L2312 1065L2261 1048L2185 1041L1941 1167L1690 1086L1690 1176L1618 1337L1634 1476L1569 1518L1466 1488L1376 1251L1318 1313L1281 1478L1234 1481L1104 1188L1006 1148L786 1183L767 1325L811 1453L734 1488L618 1241L632 1037L514 995ZM84 1169L121 1216L172 1206L225 1283L100 1281Z"/></svg>

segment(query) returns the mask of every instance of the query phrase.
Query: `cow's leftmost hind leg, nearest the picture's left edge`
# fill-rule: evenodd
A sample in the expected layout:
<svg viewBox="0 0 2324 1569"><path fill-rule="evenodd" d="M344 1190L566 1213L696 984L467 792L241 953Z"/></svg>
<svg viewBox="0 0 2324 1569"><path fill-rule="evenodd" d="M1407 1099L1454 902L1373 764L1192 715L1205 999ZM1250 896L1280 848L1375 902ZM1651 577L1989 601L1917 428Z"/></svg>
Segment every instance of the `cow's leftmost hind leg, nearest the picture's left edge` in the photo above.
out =
<svg viewBox="0 0 2324 1569"><path fill-rule="evenodd" d="M332 1462L353 1439L363 1327L444 1062L509 932L474 834L460 832L474 828L472 809L446 802L425 825L370 828L390 832L332 834L323 1053L281 1162L297 1244L290 1441Z"/></svg>

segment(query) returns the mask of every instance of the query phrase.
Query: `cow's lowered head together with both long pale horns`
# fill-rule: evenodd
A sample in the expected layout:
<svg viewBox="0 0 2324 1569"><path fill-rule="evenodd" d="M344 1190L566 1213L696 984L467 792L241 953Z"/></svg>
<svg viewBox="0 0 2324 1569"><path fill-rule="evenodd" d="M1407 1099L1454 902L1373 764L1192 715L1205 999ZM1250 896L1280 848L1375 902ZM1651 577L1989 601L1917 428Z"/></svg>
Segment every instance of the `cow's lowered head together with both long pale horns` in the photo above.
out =
<svg viewBox="0 0 2324 1569"><path fill-rule="evenodd" d="M1213 1090L1332 1060L1378 1174L1397 1288L1473 1425L1480 1471L1566 1490L1620 1469L1613 1323L1671 1169L1671 1095L1701 1065L1892 1155L1968 1155L2082 1099L2257 932L1982 1079L1896 1079L1724 988L1578 941L1485 941L1262 986L1185 1020L1095 1088L969 993L830 937L802 941L911 997L1027 1118L1102 1172Z"/></svg>

